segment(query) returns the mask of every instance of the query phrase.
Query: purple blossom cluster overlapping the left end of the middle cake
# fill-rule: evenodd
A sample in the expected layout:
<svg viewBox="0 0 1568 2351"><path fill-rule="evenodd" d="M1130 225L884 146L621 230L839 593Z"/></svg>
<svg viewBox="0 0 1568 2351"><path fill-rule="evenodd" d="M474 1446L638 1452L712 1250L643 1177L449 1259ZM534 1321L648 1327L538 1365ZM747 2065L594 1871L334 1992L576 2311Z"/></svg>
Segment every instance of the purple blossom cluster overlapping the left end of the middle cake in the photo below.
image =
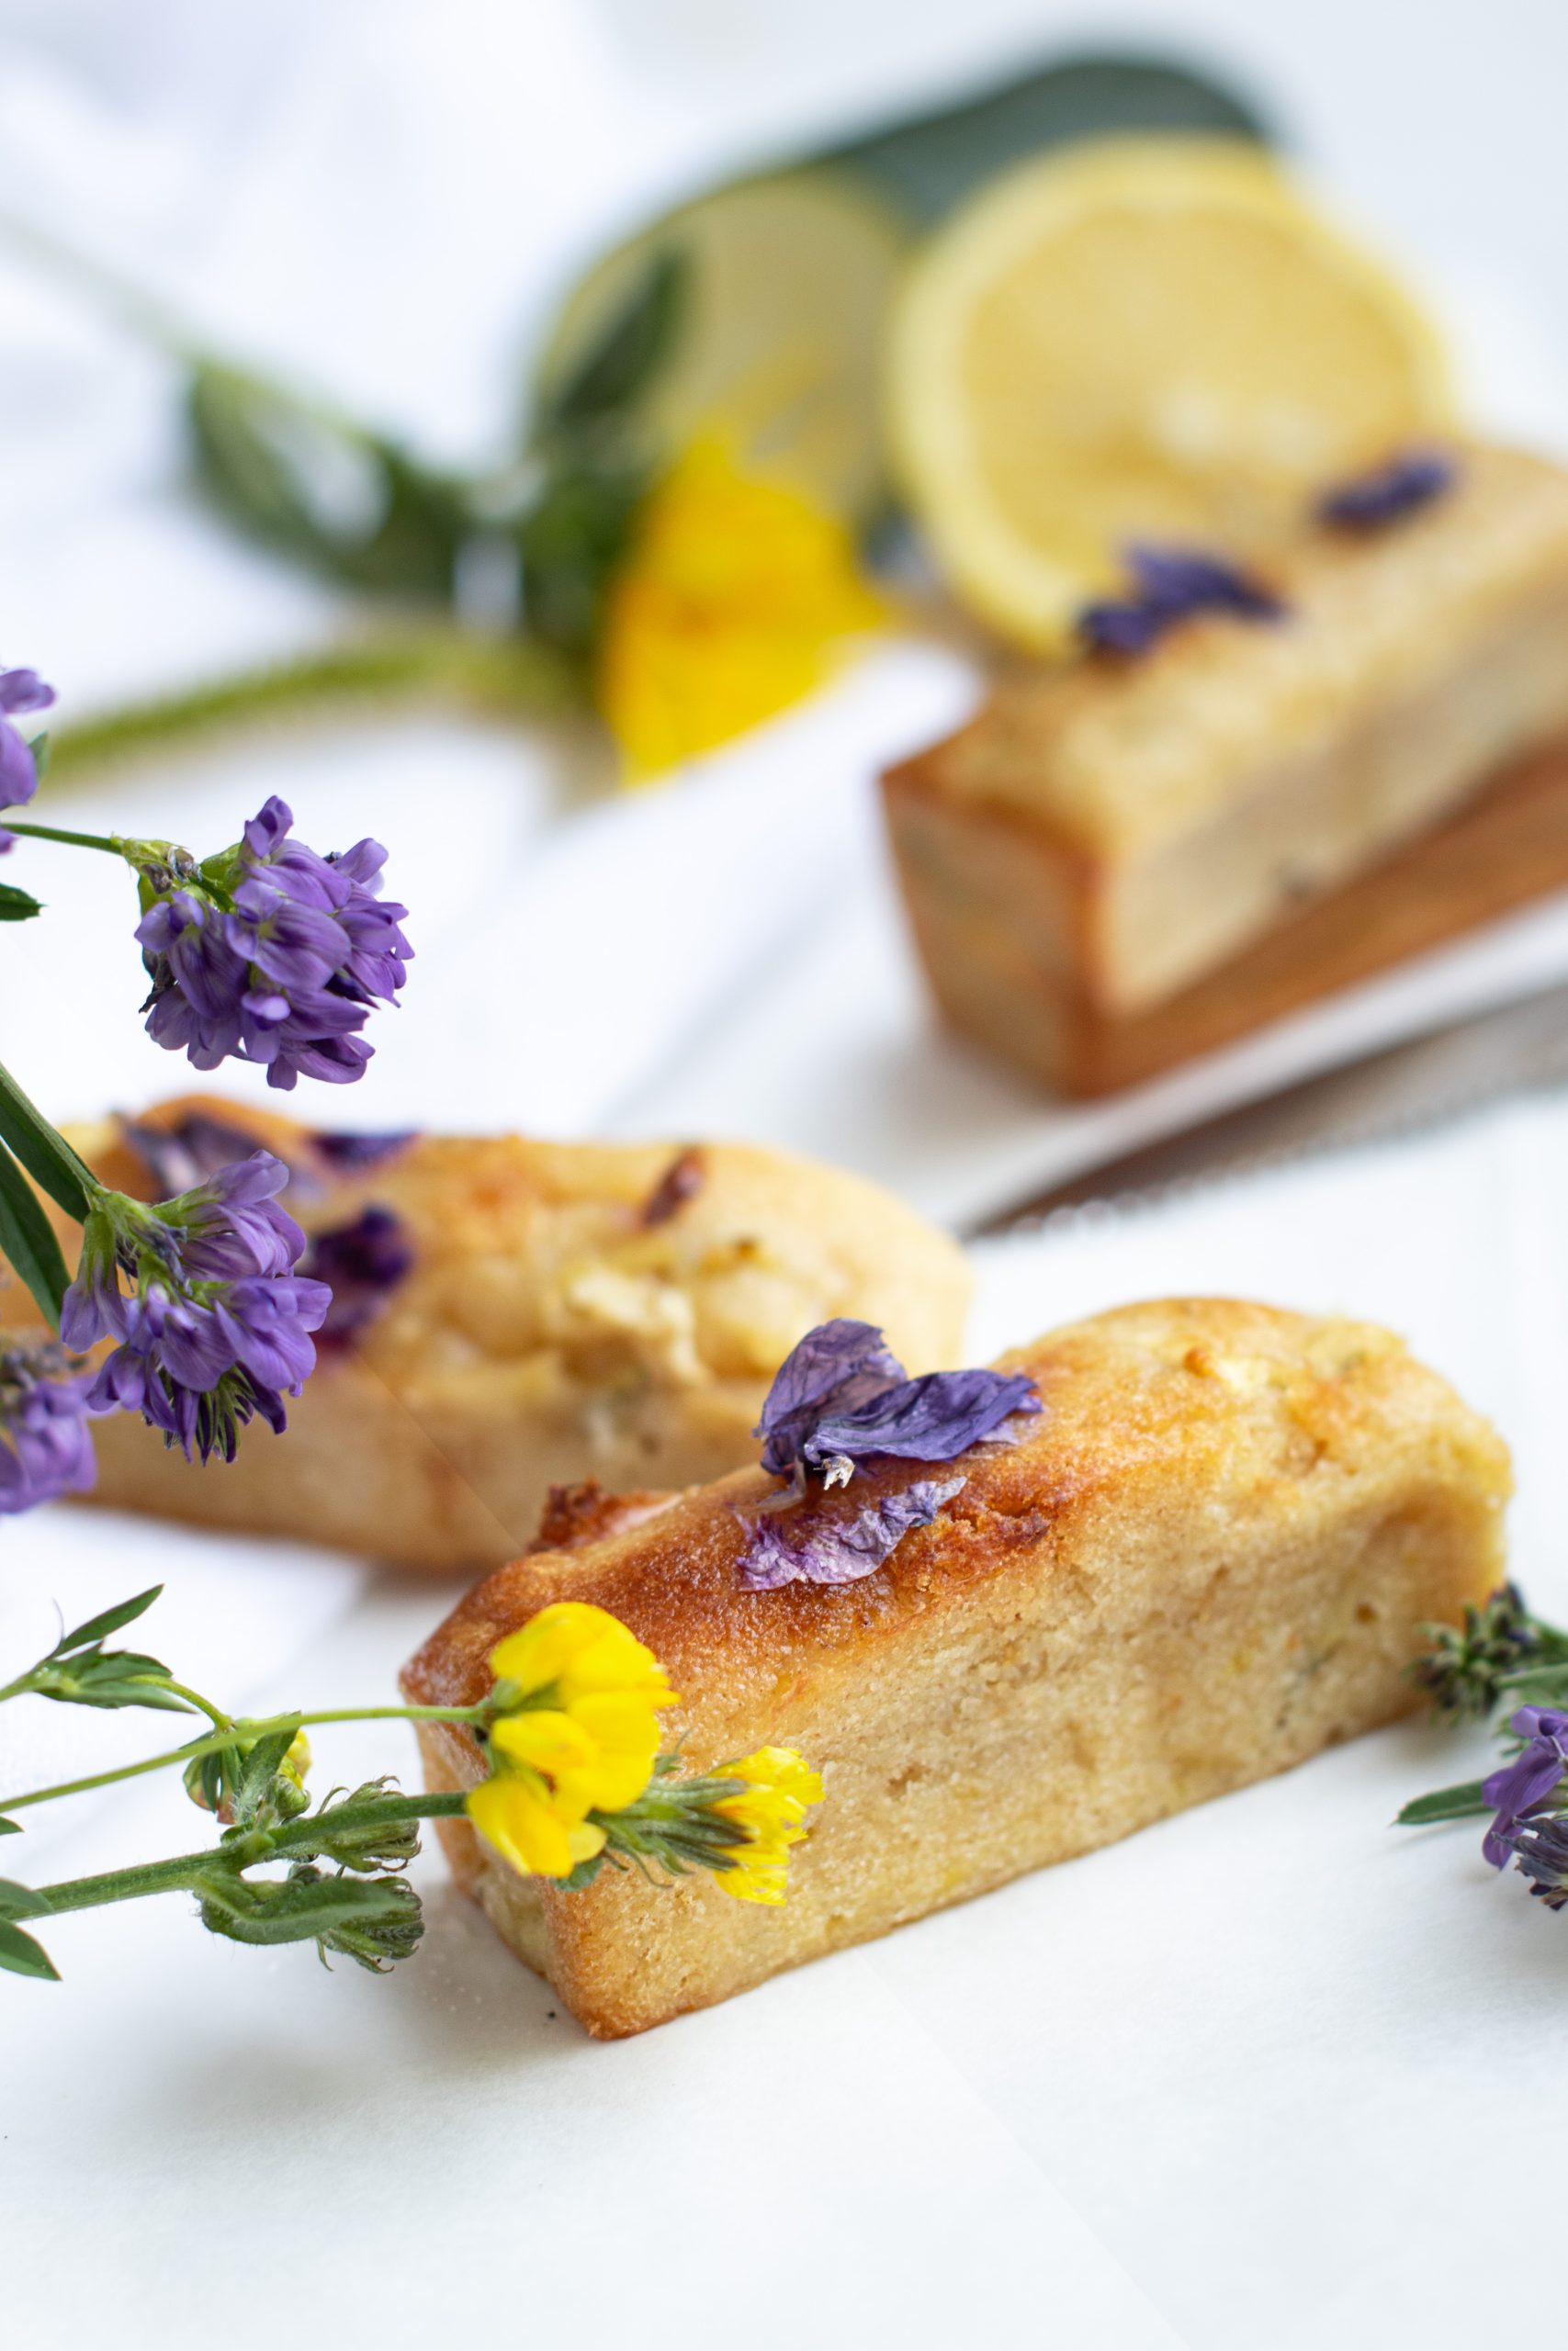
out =
<svg viewBox="0 0 1568 2351"><path fill-rule="evenodd" d="M277 1206L287 1180L282 1159L254 1152L158 1208L96 1197L61 1312L78 1352L118 1340L89 1392L94 1411L141 1413L186 1460L233 1460L256 1413L284 1427L282 1399L315 1368L310 1333L331 1305L322 1281L294 1272L306 1237Z"/></svg>

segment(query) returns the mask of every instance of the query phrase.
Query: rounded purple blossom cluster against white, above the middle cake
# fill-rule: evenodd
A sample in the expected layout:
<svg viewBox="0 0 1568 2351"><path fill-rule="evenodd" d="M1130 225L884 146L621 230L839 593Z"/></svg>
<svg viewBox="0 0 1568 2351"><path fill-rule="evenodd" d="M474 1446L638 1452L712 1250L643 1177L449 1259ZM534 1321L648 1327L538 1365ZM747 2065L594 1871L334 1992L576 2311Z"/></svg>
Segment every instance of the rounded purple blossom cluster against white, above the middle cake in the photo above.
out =
<svg viewBox="0 0 1568 2351"><path fill-rule="evenodd" d="M376 896L378 842L317 856L289 839L292 823L273 797L223 858L143 868L155 891L136 929L148 1034L197 1070L233 1056L266 1067L270 1086L343 1086L371 1058L360 1037L371 1004L390 1004L407 978L407 907Z"/></svg>

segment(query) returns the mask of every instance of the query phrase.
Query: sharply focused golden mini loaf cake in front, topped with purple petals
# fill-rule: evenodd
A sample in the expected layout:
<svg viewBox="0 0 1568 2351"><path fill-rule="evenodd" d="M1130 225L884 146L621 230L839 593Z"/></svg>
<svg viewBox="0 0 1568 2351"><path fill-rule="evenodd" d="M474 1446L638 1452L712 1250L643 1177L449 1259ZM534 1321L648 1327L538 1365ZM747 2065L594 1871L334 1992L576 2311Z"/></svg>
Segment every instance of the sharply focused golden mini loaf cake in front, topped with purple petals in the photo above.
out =
<svg viewBox="0 0 1568 2351"><path fill-rule="evenodd" d="M1011 1444L872 1460L778 1512L940 1479L872 1573L748 1589L778 1491L750 1469L557 1516L564 1547L494 1573L407 1667L411 1702L475 1704L505 1634L590 1601L663 1660L696 1770L780 1744L823 1775L783 1909L609 1869L564 1890L442 1822L461 1886L588 2031L729 1998L1371 1730L1418 1697L1418 1625L1502 1575L1507 1453L1385 1331L1175 1300L1001 1368L1041 1404ZM465 1730L421 1726L421 1747L433 1789L484 1777Z"/></svg>

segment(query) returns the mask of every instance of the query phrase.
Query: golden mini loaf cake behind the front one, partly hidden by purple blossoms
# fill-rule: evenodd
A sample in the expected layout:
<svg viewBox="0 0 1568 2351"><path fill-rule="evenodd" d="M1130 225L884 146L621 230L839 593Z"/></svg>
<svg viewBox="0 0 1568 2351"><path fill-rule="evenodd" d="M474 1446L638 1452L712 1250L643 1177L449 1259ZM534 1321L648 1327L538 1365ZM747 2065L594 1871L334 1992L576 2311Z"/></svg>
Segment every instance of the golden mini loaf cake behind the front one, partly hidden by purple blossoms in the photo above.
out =
<svg viewBox="0 0 1568 2351"><path fill-rule="evenodd" d="M823 1317L886 1324L919 1368L961 1345L961 1251L783 1152L317 1136L200 1096L71 1140L141 1199L277 1152L303 1272L334 1291L282 1441L254 1422L233 1465L200 1467L129 1413L96 1422L89 1500L113 1509L480 1573L522 1549L555 1483L755 1460L769 1380Z"/></svg>

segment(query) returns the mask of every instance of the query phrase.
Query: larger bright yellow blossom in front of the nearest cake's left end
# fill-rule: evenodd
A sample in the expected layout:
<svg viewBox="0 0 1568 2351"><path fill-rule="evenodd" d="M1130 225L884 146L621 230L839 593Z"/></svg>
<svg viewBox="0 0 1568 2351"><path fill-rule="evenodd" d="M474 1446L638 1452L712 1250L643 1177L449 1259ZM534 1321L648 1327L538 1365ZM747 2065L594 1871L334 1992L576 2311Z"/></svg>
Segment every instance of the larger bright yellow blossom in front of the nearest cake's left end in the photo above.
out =
<svg viewBox="0 0 1568 2351"><path fill-rule="evenodd" d="M489 1662L505 1712L468 1817L515 1869L571 1876L604 1846L588 1813L618 1813L654 1777L658 1709L675 1690L654 1650L583 1601L541 1608Z"/></svg>

